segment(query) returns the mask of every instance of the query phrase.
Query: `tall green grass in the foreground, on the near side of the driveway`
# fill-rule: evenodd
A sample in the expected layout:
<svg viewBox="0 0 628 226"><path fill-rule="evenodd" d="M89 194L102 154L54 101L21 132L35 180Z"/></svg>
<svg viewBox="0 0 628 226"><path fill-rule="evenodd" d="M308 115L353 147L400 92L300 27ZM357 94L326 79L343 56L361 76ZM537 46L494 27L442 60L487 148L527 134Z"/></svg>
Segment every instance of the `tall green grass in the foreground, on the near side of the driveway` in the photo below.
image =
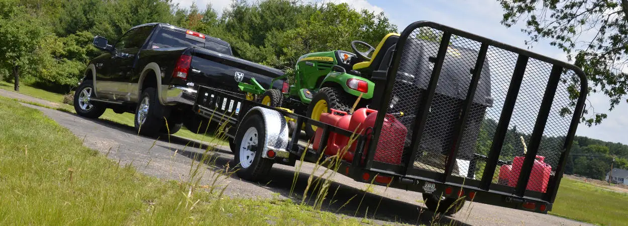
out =
<svg viewBox="0 0 628 226"><path fill-rule="evenodd" d="M0 122L0 225L360 223L290 201L229 198L141 175L85 148L40 111L3 97Z"/></svg>

